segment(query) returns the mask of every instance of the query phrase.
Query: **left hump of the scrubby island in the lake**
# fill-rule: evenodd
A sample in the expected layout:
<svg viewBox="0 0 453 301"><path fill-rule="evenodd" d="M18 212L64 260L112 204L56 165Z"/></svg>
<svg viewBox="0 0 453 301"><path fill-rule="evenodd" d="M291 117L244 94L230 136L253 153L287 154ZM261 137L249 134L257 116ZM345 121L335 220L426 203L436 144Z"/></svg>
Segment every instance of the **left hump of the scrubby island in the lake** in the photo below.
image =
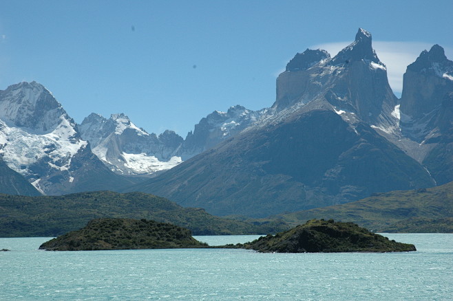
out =
<svg viewBox="0 0 453 301"><path fill-rule="evenodd" d="M146 219L94 219L81 230L69 232L39 249L87 251L112 249L174 249L207 247L190 230Z"/></svg>

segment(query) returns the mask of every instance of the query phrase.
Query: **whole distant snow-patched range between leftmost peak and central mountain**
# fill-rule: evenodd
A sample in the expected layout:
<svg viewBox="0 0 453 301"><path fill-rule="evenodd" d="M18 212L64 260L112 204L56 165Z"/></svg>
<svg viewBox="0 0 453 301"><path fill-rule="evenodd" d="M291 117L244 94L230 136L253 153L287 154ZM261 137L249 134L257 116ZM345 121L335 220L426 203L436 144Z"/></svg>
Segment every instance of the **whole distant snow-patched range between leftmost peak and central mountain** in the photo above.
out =
<svg viewBox="0 0 453 301"><path fill-rule="evenodd" d="M92 113L78 129L83 140L92 146L93 153L114 172L155 177L159 172L237 135L266 111L251 111L240 105L230 107L227 112L213 111L195 125L185 140L169 130L158 136L149 134L123 113L112 114L108 120Z"/></svg>

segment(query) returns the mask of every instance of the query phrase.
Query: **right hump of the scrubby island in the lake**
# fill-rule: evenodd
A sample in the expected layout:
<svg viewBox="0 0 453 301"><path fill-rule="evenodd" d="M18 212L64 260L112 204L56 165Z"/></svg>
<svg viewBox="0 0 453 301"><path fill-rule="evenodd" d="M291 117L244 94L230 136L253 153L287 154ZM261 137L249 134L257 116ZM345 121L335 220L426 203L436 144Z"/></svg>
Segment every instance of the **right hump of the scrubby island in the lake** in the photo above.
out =
<svg viewBox="0 0 453 301"><path fill-rule="evenodd" d="M277 253L417 251L414 245L390 241L355 223L335 222L332 219L313 219L275 236L262 236L251 243L234 247Z"/></svg>

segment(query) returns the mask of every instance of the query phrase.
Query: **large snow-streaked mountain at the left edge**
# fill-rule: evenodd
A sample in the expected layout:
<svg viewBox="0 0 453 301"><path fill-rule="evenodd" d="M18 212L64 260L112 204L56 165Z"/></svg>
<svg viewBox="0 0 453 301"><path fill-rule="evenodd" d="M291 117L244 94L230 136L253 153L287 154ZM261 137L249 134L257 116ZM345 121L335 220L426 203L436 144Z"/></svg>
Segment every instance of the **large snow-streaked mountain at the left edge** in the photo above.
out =
<svg viewBox="0 0 453 301"><path fill-rule="evenodd" d="M43 194L115 189L134 182L111 172L76 124L37 82L0 91L0 155Z"/></svg>

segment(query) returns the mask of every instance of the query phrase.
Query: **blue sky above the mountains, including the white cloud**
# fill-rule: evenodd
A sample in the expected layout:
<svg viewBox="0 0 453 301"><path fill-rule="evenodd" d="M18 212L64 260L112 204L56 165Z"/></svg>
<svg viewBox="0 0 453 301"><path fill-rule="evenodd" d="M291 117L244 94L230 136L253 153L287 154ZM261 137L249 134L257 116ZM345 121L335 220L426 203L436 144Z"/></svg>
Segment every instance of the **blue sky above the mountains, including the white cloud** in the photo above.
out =
<svg viewBox="0 0 453 301"><path fill-rule="evenodd" d="M453 1L10 1L0 4L0 89L36 80L67 113L125 113L183 137L214 110L270 107L296 52L331 56L371 32L390 85L434 44L453 59Z"/></svg>

